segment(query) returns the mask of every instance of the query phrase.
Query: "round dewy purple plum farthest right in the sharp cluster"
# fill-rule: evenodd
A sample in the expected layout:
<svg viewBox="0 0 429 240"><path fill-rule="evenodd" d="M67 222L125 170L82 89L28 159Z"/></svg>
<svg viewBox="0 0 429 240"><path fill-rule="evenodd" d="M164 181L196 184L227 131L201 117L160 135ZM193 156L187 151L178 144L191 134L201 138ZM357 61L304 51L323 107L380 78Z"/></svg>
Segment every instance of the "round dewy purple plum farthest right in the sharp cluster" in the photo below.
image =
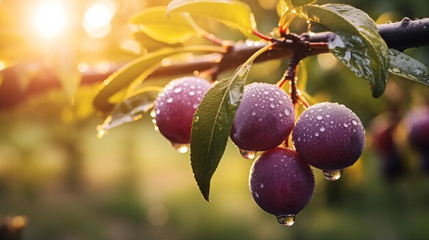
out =
<svg viewBox="0 0 429 240"><path fill-rule="evenodd" d="M299 116L292 142L302 161L321 170L342 170L362 155L365 129L344 105L318 103Z"/></svg>

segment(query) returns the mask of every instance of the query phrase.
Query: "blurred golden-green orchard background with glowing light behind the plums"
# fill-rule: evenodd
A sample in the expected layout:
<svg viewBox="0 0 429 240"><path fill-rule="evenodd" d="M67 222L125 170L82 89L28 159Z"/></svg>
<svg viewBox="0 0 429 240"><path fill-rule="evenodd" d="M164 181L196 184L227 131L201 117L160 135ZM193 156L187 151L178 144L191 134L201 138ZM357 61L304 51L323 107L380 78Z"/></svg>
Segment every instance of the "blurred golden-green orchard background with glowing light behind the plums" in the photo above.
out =
<svg viewBox="0 0 429 240"><path fill-rule="evenodd" d="M277 1L245 2L260 31L277 25ZM379 24L429 15L429 2L423 0L317 3L328 2L360 8ZM138 34L132 38L127 19L149 6L168 3L0 1L0 69L23 66L17 68L16 84L24 92L40 71L38 66L55 73L57 85L62 85L13 107L0 96L1 223L25 225L22 239L428 239L429 176L406 139L404 124L393 131L402 159L400 174L387 173L373 149L373 132L427 104L428 88L389 75L386 92L374 99L367 83L332 55L304 60L308 93L317 101L352 109L367 129L367 144L363 157L340 181L328 184L315 171L315 197L291 228L280 226L256 206L248 189L252 161L241 158L231 141L208 203L199 194L188 154L175 152L154 131L149 116L97 139L96 126L103 118L95 113L92 99L99 83L78 87L82 75L107 74L159 47L156 42L140 44L143 37ZM218 23L205 27L220 38L241 38L238 31ZM198 41L204 40L192 38L189 44ZM428 46L405 53L429 65ZM287 59L257 64L248 82L275 83L286 64ZM163 86L170 80L148 81Z"/></svg>

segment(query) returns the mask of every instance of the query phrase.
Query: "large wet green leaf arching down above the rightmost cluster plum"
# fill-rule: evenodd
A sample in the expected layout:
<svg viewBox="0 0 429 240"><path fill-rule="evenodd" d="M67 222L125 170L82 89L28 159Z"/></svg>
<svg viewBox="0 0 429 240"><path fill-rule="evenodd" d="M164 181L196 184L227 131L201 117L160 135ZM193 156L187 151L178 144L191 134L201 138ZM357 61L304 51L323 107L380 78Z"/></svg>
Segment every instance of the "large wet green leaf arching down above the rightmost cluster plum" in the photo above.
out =
<svg viewBox="0 0 429 240"><path fill-rule="evenodd" d="M330 40L329 47L341 62L366 62L369 59L361 68L353 66L354 64L347 66L353 66L351 69L356 75L369 81L373 97L381 96L386 87L389 51L386 42L378 33L376 23L365 12L350 5L305 5L300 9L304 18L335 31L338 36ZM363 46L359 45L360 42ZM354 44L365 51L365 59L352 59L359 57L356 52L354 55L349 53L355 47Z"/></svg>

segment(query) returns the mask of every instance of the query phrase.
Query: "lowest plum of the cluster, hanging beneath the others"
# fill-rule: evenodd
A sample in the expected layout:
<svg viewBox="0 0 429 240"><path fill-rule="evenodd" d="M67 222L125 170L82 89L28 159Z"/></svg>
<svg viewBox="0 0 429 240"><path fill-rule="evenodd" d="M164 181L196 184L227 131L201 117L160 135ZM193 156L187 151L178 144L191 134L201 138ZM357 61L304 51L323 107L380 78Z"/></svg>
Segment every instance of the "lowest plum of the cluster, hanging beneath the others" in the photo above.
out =
<svg viewBox="0 0 429 240"><path fill-rule="evenodd" d="M254 161L249 187L261 209L275 216L296 215L310 202L315 176L291 148L273 148Z"/></svg>

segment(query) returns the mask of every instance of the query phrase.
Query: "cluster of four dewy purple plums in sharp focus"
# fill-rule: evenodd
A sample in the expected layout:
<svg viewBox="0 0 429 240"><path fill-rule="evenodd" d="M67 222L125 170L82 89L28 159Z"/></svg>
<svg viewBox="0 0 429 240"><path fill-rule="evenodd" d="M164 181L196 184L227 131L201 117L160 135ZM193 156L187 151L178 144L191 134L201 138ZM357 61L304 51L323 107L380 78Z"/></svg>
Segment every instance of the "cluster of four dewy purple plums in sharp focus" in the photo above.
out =
<svg viewBox="0 0 429 240"><path fill-rule="evenodd" d="M193 114L210 86L204 79L184 77L171 81L158 96L156 124L174 146L190 142ZM291 133L295 150L287 147ZM267 83L245 86L230 137L245 158L263 151L250 170L250 191L260 208L285 226L293 224L312 198L315 177L310 165L336 180L358 160L365 144L362 123L344 105L312 105L295 123L289 96Z"/></svg>

